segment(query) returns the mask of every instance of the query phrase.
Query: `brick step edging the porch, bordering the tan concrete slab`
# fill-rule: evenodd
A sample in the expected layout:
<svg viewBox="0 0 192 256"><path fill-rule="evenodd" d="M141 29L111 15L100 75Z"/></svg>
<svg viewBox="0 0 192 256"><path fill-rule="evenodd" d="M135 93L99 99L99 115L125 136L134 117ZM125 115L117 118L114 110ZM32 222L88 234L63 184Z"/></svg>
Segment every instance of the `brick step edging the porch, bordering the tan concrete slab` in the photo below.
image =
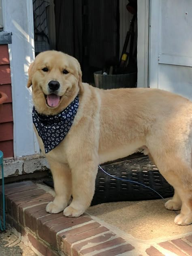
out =
<svg viewBox="0 0 192 256"><path fill-rule="evenodd" d="M118 232L105 226L105 222L101 224L90 215L69 218L63 213L47 213L45 207L53 201L53 193L32 181L7 184L5 195L6 223L37 255L168 255L165 252L192 255L192 235L159 244L149 243L141 251L141 243L137 239L133 243L133 239L128 241L120 237Z"/></svg>

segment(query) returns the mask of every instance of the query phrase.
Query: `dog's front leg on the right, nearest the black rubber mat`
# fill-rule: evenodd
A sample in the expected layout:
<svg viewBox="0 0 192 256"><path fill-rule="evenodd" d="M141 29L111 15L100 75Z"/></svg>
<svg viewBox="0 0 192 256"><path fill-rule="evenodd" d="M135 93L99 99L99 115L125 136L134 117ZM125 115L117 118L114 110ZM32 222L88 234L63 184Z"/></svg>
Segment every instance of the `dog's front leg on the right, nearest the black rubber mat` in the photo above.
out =
<svg viewBox="0 0 192 256"><path fill-rule="evenodd" d="M95 191L95 179L98 171L97 161L87 161L71 169L73 200L64 209L64 215L78 217L90 206Z"/></svg>

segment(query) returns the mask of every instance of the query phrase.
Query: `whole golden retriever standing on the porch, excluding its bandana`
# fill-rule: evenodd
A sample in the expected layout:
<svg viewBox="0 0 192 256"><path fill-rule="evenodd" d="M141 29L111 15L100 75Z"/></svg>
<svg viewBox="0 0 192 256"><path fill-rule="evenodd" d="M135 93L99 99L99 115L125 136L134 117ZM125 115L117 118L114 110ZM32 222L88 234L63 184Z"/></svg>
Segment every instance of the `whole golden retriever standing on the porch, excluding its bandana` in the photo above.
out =
<svg viewBox="0 0 192 256"><path fill-rule="evenodd" d="M55 199L47 212L83 214L94 195L98 164L143 147L175 189L173 199L165 203L166 209L181 209L175 223L192 223L190 100L158 89L102 90L82 83L79 62L58 51L37 55L28 75L27 86L32 85L34 107L41 115L57 115L79 97L70 130L47 154L34 128L54 181Z"/></svg>

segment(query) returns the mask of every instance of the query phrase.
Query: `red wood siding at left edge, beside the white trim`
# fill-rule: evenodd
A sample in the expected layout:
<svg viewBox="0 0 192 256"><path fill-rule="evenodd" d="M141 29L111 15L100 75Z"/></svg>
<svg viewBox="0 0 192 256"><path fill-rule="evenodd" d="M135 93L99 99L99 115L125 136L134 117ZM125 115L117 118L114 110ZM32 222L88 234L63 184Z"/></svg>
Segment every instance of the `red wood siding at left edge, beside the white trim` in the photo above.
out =
<svg viewBox="0 0 192 256"><path fill-rule="evenodd" d="M8 96L0 115L0 150L4 158L13 157L13 109L8 45L0 45L0 91Z"/></svg>

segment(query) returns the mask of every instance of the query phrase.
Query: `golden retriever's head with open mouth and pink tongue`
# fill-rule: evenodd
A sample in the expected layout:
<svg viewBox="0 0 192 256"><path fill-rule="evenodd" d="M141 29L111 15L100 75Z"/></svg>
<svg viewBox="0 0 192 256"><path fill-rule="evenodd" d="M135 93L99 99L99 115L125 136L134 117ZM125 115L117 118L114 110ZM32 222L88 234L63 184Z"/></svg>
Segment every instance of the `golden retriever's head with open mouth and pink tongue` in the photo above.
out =
<svg viewBox="0 0 192 256"><path fill-rule="evenodd" d="M28 70L34 106L38 113L55 115L83 92L79 62L60 51L39 53Z"/></svg>

